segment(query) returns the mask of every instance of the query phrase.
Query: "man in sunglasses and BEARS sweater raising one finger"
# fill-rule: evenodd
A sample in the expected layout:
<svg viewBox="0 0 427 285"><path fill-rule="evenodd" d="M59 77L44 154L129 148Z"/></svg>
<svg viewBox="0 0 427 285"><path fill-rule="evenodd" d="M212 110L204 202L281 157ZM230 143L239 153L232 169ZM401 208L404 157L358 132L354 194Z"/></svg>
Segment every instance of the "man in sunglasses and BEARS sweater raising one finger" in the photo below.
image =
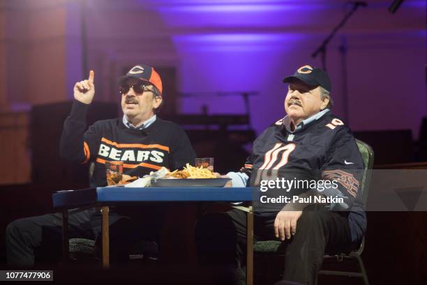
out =
<svg viewBox="0 0 427 285"><path fill-rule="evenodd" d="M107 185L105 162L123 162L123 180L142 177L166 167L171 171L193 164L195 152L178 125L163 121L156 111L163 102L160 75L143 64L134 66L118 80L122 118L98 121L87 129L86 115L95 95L95 74L74 86L74 102L61 135L61 157L78 163L93 162L91 187ZM70 213L70 238L100 238L100 213L82 210ZM116 207L110 211L111 258L127 261L128 249L137 240L156 242L163 219L163 208ZM99 239L98 239L99 241ZM30 268L35 250L50 247L49 254L61 254L61 215L59 213L17 219L6 229L8 264ZM46 252L45 252L46 253Z"/></svg>

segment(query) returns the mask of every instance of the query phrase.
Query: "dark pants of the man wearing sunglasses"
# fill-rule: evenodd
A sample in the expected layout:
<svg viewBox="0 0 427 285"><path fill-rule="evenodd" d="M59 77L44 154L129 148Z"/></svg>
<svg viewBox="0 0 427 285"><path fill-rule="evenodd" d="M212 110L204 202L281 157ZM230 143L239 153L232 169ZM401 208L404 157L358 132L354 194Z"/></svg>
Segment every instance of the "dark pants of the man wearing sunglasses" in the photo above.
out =
<svg viewBox="0 0 427 285"><path fill-rule="evenodd" d="M68 237L97 240L100 244L100 211L70 210ZM163 210L157 206L115 208L110 212L110 256L112 262L128 259L128 249L137 240L156 240L163 221ZM8 265L31 268L36 261L61 259L61 213L16 219L6 228Z"/></svg>

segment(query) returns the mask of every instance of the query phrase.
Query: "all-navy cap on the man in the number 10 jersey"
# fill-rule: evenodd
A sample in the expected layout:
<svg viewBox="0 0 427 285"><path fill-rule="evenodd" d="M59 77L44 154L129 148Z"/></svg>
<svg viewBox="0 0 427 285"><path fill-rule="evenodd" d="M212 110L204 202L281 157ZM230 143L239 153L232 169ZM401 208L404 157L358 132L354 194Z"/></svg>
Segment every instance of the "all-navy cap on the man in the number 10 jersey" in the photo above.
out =
<svg viewBox="0 0 427 285"><path fill-rule="evenodd" d="M283 82L291 82L292 79L297 78L308 85L320 85L325 88L327 91L331 92L331 79L327 75L327 72L322 70L322 68L313 68L311 66L301 66L294 73L294 75L285 77Z"/></svg>

